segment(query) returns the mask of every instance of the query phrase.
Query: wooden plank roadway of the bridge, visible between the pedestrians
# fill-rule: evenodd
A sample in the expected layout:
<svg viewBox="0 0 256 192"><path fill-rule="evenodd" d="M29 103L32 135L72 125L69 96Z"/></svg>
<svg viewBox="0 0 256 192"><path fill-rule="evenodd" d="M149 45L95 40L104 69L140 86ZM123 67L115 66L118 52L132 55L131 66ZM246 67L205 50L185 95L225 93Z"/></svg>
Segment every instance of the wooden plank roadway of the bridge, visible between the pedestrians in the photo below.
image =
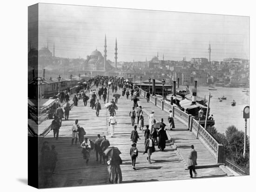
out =
<svg viewBox="0 0 256 192"><path fill-rule="evenodd" d="M118 92L120 93L121 90L118 90ZM112 93L109 94L109 100L111 99ZM133 105L133 102L130 99L127 100L126 97L122 96L118 100L117 105L119 109L116 111L117 126L115 127L114 137L109 137L110 128L107 126L109 114L107 109L103 108L103 101L100 100L100 102L102 110L100 111L100 116L96 117L95 110L91 109L89 106L84 107L83 102L80 100L78 102L78 106L73 107L70 111L69 120L62 121L59 140L55 140L53 138L52 131L50 131L42 140L49 141L49 145L56 146L59 161L56 165L55 174L49 178L40 177L40 187L44 188L109 184L109 167L107 165L99 164L95 161L94 151L91 151L89 165L86 166L85 160L82 158L81 148L79 148L79 145L70 145L72 136L71 128L75 119L78 119L79 125L85 128L87 133L86 136L88 136L88 138L95 140L97 134L101 134L101 136L106 135L107 139L110 141L110 144L120 149L120 156L123 160L123 164L121 165L123 183L190 179L189 171L185 169L186 167L184 166L180 155L170 144L167 144L166 150L164 152L159 151L156 147L156 152L152 155L152 164L148 164L146 160L147 154L143 155L144 134L143 131L140 130L138 130L138 133L141 137L141 140L138 141L137 145L139 156L136 160L136 170L133 170L129 155L129 150L131 147L130 133L133 130L129 118L129 111ZM144 104L143 99L141 99L141 105L142 104L144 110L147 109L150 111L150 109L154 109L157 115L157 119L161 117L161 114L163 117L167 118L167 114L165 112L158 112L158 110L154 108L153 104ZM144 114L144 117L146 121L148 119L147 115ZM175 121L175 123L176 128L182 128L181 123L177 121ZM145 122L145 124L147 124L147 122ZM200 153L201 152L198 152L199 157ZM219 167L209 169L202 168L198 169L197 171L197 178L220 177L225 175L226 173L224 173Z"/></svg>

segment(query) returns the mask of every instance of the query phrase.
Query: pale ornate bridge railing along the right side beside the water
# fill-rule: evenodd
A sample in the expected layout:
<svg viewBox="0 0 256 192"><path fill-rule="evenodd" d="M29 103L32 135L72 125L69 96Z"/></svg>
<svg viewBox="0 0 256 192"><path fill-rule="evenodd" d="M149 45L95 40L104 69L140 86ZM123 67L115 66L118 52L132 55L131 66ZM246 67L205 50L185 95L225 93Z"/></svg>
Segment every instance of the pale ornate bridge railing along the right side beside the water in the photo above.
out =
<svg viewBox="0 0 256 192"><path fill-rule="evenodd" d="M145 91L141 90L141 96L146 97ZM149 101L155 104L160 109L164 111L169 111L170 109L173 110L173 115L176 119L178 119L180 122L185 124L190 131L192 131L195 135L197 135L198 130L198 124L192 115L189 115L185 113L184 111L180 110L177 107L172 106L171 104L168 104L167 102L162 102L160 99L155 99L154 96L150 95ZM202 125L199 126L199 132L198 132L198 138L200 141L202 141L203 145L209 150L209 152L213 155L213 157L216 159L217 163L224 163L223 155L223 145L219 144L209 132L202 127Z"/></svg>

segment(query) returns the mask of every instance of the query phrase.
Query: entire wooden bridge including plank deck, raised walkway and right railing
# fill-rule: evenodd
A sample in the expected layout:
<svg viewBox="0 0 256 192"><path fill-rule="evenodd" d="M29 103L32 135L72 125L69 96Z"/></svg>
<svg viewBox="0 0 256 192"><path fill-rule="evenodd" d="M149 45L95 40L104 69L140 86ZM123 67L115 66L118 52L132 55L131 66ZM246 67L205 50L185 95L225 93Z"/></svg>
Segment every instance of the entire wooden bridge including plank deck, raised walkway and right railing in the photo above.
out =
<svg viewBox="0 0 256 192"><path fill-rule="evenodd" d="M92 87L92 89L96 89L96 87ZM96 92L98 89L96 89ZM121 90L118 90L117 93L121 94ZM109 93L109 96L111 99L112 92ZM196 178L232 175L223 166L221 157L222 145L218 144L201 127L199 127L199 139L196 139L198 122L191 115L185 114L175 106L155 96L150 96L150 102L147 102L145 96L146 92L141 90L138 104L142 106L145 125L148 124L148 115L152 110L155 111L157 122L163 118L165 124L168 124L169 109L173 109L175 119L175 129L172 131L167 129L168 142L166 149L162 152L156 146L156 151L151 157L152 164L148 164L147 154L143 154L145 150L144 132L137 129L141 140L137 143L139 156L136 160L136 170L133 170L131 166L129 154L131 147L130 133L133 127L131 126L129 111L133 106L133 102L130 97L127 99L126 96L121 96L118 100L118 110L116 110L117 125L113 137L111 137L110 127L108 127L108 109L104 108L102 99L100 100L102 109L99 117L96 117L95 110L90 108L90 101L88 101L88 106L85 107L82 100L79 100L78 106L72 107L69 120L62 120L58 140L53 137L53 131L50 130L50 121L44 124L45 130L41 128L41 132L44 134L40 136L39 147L42 146L44 141L48 141L49 145L55 145L55 149L58 152L58 161L55 174L50 177L40 176L40 187L109 184L109 166L95 161L94 150L91 150L89 164L86 165L85 160L82 158L80 145L71 145L71 128L76 119L79 120L78 124L85 129L86 137L94 141L97 134L106 135L110 145L120 149L120 157L123 160L121 165L123 183L190 179L187 162L191 150L190 145L192 144L195 146L198 155ZM72 105L72 102L70 103Z"/></svg>

